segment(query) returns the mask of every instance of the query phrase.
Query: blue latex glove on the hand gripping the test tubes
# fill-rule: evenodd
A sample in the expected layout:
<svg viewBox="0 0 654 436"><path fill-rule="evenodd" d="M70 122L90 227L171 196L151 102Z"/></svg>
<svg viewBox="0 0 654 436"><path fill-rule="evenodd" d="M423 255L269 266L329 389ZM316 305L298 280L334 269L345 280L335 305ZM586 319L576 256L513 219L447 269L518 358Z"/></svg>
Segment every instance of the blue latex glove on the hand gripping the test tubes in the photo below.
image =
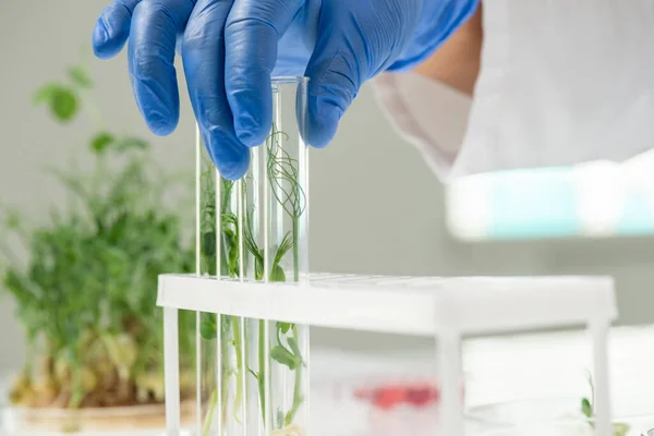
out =
<svg viewBox="0 0 654 436"><path fill-rule="evenodd" d="M308 76L308 138L325 146L363 83L426 59L479 0L114 0L93 46L111 58L129 44L136 102L149 129L179 121L173 60L181 48L189 94L223 177L250 165L247 147L271 125L271 75Z"/></svg>

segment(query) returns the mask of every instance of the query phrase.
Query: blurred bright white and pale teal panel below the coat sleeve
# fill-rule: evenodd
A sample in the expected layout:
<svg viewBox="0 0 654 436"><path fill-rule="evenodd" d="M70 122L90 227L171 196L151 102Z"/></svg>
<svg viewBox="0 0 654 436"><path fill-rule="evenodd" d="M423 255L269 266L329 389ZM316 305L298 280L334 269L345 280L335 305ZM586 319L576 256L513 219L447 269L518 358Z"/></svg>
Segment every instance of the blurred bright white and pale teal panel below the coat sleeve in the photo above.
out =
<svg viewBox="0 0 654 436"><path fill-rule="evenodd" d="M472 240L590 237L598 228L604 235L654 234L654 181L647 182L646 178L638 183L615 180L623 186L620 187L623 192L617 204L615 198L611 202L610 207L618 210L606 210L608 216L615 213L617 217L613 226L608 223L609 228L606 228L605 213L597 217L597 222L593 222L593 216L581 217L580 204L584 201L581 195L593 195L593 202L597 195L601 201L603 195L597 191L600 185L597 190L589 185L594 179L583 180L582 177L583 173L570 167L483 174L469 180L465 189L451 191L457 197L452 197L450 219L456 221L449 226L455 234ZM594 172L591 177L602 174ZM607 177L616 175L609 173ZM583 190L576 184L580 181Z"/></svg>

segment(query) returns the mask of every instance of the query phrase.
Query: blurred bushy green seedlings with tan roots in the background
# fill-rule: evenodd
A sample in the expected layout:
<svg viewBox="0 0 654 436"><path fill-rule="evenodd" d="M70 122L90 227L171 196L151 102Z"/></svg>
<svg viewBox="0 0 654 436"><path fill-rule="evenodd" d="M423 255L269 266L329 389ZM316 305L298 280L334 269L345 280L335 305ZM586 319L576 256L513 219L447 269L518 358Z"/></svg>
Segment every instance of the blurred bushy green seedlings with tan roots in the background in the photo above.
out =
<svg viewBox="0 0 654 436"><path fill-rule="evenodd" d="M57 122L86 112L98 126L84 149L92 158L85 170L48 169L69 194L66 207L34 225L2 208L9 234L0 235L1 287L16 302L28 347L4 422L26 434L105 427L134 434L134 419L162 426L157 276L194 270L181 217L164 201L184 179L159 168L146 141L107 130L92 90L86 70L74 66L68 81L35 95ZM194 328L195 314L182 313L182 399L195 395Z"/></svg>

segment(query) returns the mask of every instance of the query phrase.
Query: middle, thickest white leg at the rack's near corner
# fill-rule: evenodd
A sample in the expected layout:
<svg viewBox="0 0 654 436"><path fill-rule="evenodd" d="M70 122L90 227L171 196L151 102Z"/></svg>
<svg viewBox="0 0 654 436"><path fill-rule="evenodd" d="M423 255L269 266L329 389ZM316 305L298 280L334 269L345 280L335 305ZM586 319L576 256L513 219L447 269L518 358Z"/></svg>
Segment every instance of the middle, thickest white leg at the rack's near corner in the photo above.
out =
<svg viewBox="0 0 654 436"><path fill-rule="evenodd" d="M437 361L440 373L440 422L439 435L463 436L463 397L461 380L461 335L449 331L436 336Z"/></svg>

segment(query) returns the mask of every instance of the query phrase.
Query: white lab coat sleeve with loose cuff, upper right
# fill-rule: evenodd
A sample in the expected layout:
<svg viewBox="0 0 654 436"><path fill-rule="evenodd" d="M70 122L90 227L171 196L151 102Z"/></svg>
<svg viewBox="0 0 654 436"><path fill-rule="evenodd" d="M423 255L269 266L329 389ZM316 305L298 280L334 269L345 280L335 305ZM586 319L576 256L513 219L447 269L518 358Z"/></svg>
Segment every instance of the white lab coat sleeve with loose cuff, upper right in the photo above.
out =
<svg viewBox="0 0 654 436"><path fill-rule="evenodd" d="M654 0L485 0L483 25L473 98L414 74L375 80L441 180L654 147Z"/></svg>

